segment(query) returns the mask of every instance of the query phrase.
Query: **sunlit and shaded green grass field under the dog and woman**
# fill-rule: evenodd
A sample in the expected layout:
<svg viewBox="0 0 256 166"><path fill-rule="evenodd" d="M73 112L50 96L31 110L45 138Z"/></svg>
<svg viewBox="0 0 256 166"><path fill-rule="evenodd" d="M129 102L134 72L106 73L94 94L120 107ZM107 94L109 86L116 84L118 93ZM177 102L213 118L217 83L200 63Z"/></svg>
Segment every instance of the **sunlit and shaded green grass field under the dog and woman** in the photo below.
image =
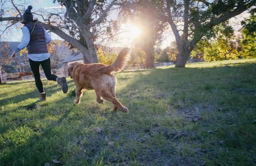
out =
<svg viewBox="0 0 256 166"><path fill-rule="evenodd" d="M115 73L129 113L43 79L0 85L0 165L256 165L256 59Z"/></svg>

